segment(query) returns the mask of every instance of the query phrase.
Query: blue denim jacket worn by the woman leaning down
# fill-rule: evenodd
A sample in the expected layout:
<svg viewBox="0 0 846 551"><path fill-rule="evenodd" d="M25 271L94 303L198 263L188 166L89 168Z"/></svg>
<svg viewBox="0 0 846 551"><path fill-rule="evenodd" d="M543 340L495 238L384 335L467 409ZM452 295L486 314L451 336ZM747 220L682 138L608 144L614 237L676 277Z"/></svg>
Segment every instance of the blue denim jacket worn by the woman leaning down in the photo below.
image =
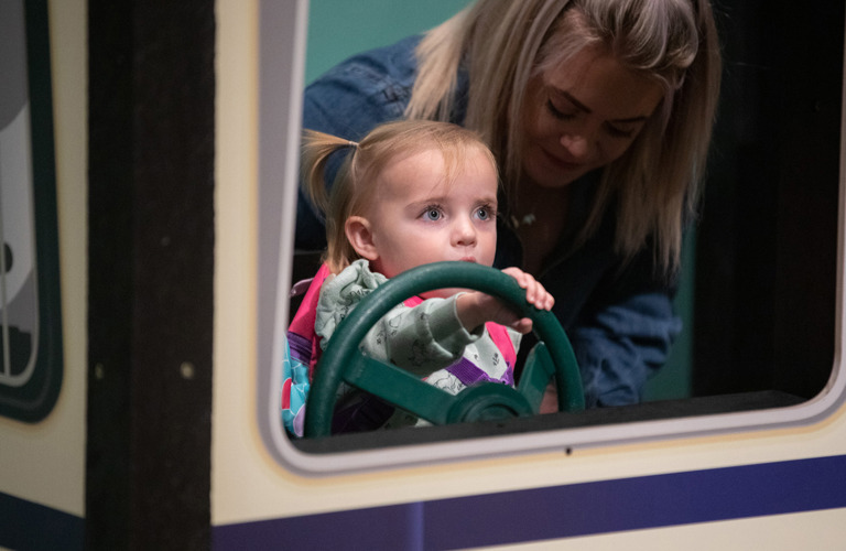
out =
<svg viewBox="0 0 846 551"><path fill-rule="evenodd" d="M356 55L317 78L305 89L303 127L358 141L377 125L402 118L414 84L419 40L412 36ZM466 84L466 75L459 75L457 123L464 120L460 98ZM578 223L586 219L597 176L588 174L571 184L568 216L575 218L571 227L581 227ZM623 262L614 251L614 208L608 213L582 247L572 247L572 235L562 236L535 274L555 296L553 312L573 344L588 407L640 401L643 383L664 364L681 331L672 307L674 287L657 276L651 247ZM299 250L326 246L323 222L302 190L295 246ZM495 267L521 263L520 240L499 220Z"/></svg>

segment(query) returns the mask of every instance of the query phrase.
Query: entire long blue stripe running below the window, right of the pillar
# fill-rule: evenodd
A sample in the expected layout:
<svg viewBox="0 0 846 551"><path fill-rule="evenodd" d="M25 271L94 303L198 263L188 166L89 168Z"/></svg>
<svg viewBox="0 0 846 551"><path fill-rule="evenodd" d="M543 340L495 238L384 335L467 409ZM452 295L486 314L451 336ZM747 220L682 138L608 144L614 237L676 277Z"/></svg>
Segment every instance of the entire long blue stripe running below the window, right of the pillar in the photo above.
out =
<svg viewBox="0 0 846 551"><path fill-rule="evenodd" d="M837 507L844 455L227 525L212 537L215 550L457 549Z"/></svg>

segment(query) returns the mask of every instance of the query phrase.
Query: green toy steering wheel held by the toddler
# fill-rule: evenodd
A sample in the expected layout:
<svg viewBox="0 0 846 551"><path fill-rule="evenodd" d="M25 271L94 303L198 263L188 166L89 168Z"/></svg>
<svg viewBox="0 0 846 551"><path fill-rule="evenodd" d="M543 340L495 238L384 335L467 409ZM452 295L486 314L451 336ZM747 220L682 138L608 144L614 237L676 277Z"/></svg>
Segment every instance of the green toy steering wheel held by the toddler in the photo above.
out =
<svg viewBox="0 0 846 551"><path fill-rule="evenodd" d="M358 348L393 306L434 289L474 289L505 300L532 320L539 343L529 354L517 389L482 382L452 396L404 369L365 356ZM550 378L555 377L560 411L585 408L582 377L570 339L552 312L525 301L517 281L494 268L435 262L392 278L366 296L332 337L317 367L305 412L305 435L328 436L338 386L345 381L433 424L536 414Z"/></svg>

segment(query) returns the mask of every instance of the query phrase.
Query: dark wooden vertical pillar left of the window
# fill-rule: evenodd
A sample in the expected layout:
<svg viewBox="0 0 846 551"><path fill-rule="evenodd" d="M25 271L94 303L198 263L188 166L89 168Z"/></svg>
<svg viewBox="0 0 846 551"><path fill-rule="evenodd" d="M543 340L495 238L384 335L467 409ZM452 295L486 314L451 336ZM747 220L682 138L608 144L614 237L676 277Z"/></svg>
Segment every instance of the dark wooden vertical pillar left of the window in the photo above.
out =
<svg viewBox="0 0 846 551"><path fill-rule="evenodd" d="M207 549L215 2L88 2L86 543Z"/></svg>

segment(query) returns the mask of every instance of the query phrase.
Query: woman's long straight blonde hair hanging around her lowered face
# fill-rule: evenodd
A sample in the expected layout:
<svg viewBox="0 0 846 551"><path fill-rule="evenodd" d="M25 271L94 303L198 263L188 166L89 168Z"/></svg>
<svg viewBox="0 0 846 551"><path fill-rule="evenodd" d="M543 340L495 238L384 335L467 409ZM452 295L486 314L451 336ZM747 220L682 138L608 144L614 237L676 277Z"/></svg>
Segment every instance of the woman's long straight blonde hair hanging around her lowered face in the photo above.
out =
<svg viewBox="0 0 846 551"><path fill-rule="evenodd" d="M626 153L603 170L578 242L596 231L616 201L618 253L631 258L653 236L658 264L672 272L683 224L698 199L719 90L722 62L708 0L478 0L421 41L405 115L449 120L457 74L466 69L464 125L497 156L513 209L527 85L585 47L612 53L665 94Z"/></svg>

